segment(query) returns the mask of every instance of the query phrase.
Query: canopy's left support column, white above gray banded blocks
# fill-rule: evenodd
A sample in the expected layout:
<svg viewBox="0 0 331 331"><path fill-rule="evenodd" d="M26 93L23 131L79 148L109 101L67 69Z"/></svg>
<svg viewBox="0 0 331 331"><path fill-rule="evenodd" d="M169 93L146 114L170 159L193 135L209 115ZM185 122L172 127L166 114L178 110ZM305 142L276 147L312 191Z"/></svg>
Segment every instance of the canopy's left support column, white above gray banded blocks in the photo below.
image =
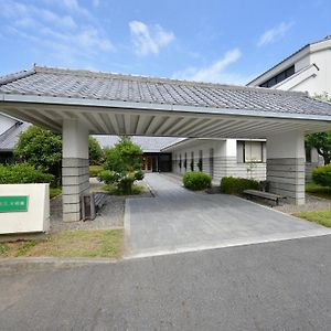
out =
<svg viewBox="0 0 331 331"><path fill-rule="evenodd" d="M63 122L62 199L63 221L82 218L81 196L89 190L88 130L76 119Z"/></svg>

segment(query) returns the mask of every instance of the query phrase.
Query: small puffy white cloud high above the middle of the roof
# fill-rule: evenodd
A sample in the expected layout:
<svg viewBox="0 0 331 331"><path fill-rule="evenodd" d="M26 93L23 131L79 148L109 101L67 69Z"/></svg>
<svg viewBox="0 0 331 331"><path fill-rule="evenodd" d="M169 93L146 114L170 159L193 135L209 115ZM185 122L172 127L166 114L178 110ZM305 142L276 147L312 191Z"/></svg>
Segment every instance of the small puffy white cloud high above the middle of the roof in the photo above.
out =
<svg viewBox="0 0 331 331"><path fill-rule="evenodd" d="M135 52L138 55L158 54L161 47L174 40L171 31L166 31L159 24L148 26L140 21L129 22Z"/></svg>

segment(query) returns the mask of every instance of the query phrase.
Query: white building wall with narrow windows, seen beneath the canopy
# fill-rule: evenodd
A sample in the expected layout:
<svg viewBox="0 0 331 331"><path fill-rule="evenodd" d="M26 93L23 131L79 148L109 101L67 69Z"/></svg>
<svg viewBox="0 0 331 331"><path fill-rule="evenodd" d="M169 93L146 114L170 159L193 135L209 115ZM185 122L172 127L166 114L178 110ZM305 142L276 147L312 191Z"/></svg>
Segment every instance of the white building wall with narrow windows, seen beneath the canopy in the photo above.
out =
<svg viewBox="0 0 331 331"><path fill-rule="evenodd" d="M210 173L210 150L214 149L214 173ZM237 162L237 141L227 140L192 140L172 149L172 171L177 174L184 174L191 171L191 152L194 152L194 170L197 170L199 151L203 151L203 172L213 177L213 182L218 184L223 177L242 177L255 180L266 179L266 163L254 163L253 171L247 171L249 164ZM183 167L185 153L188 156L188 168ZM180 156L182 168L179 167Z"/></svg>

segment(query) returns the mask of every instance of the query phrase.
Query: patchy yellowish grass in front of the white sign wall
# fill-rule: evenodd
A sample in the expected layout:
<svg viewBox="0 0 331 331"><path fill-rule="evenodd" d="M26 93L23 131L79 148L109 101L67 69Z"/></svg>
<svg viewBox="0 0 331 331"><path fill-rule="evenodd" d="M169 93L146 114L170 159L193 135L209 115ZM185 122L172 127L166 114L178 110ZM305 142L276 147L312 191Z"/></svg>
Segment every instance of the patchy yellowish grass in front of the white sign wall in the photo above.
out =
<svg viewBox="0 0 331 331"><path fill-rule="evenodd" d="M64 231L45 239L0 244L0 257L108 257L120 258L122 229Z"/></svg>

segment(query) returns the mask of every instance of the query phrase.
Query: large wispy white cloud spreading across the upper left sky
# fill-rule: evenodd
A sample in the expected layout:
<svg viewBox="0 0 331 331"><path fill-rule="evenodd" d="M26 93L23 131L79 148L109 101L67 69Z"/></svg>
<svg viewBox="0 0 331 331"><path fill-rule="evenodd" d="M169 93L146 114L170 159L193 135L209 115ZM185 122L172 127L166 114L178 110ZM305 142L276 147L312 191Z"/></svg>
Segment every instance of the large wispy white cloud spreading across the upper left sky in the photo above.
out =
<svg viewBox="0 0 331 331"><path fill-rule="evenodd" d="M78 6L74 0L64 2L71 9ZM72 15L58 15L49 9L17 1L0 2L1 15L10 19L8 31L11 34L29 40L46 58L61 60L65 65L77 65L83 60L93 62L96 56L115 51L98 24L86 17L84 23L78 24Z"/></svg>

